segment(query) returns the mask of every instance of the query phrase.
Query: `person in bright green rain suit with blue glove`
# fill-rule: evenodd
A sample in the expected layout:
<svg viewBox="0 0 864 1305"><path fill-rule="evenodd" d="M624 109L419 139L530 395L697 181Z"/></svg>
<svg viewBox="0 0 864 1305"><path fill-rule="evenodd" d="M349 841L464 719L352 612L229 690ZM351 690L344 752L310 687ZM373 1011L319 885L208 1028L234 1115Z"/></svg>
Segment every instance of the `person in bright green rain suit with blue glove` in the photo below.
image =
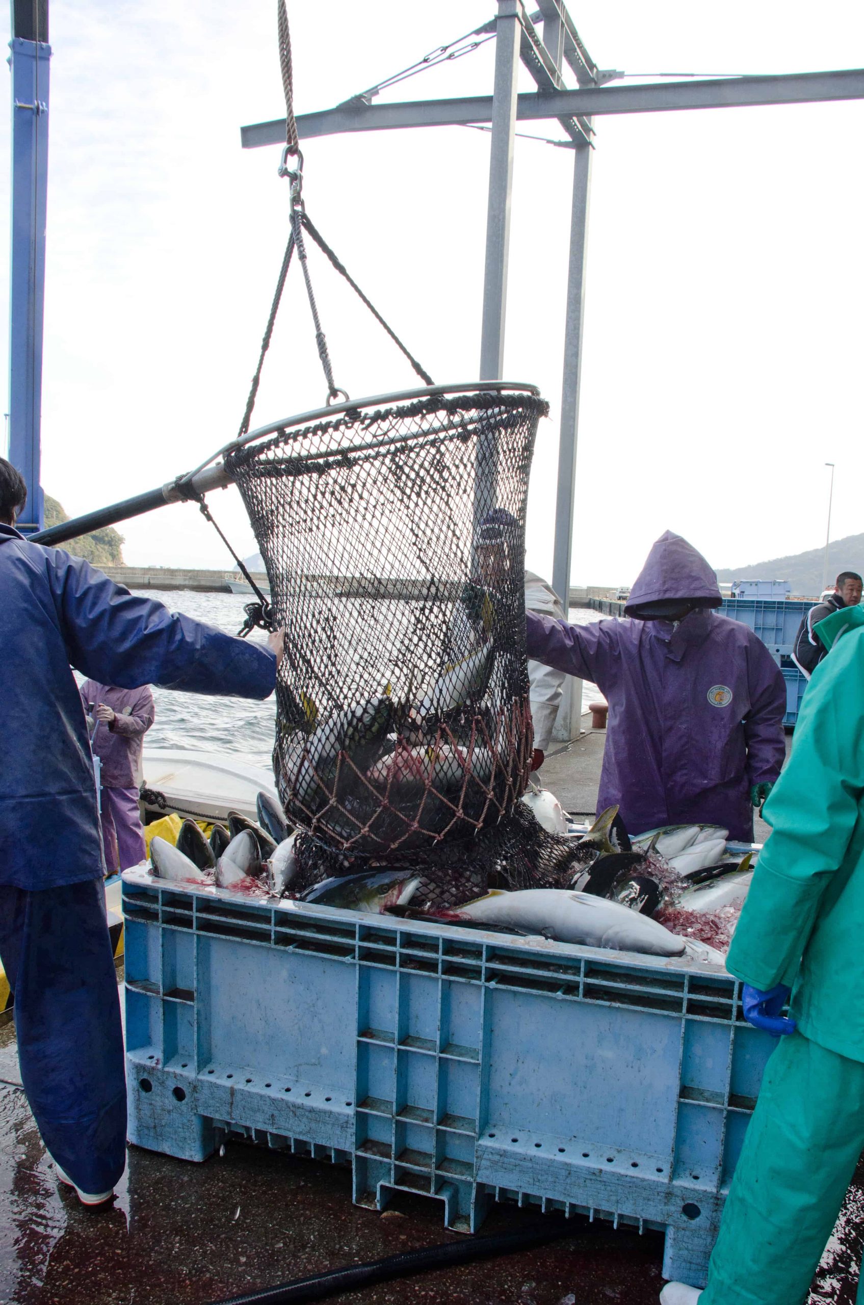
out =
<svg viewBox="0 0 864 1305"><path fill-rule="evenodd" d="M842 638L837 616L820 622L837 645L813 672L765 805L773 833L727 959L744 1014L779 1044L707 1287L668 1283L663 1305L801 1305L864 1150L864 612Z"/></svg>

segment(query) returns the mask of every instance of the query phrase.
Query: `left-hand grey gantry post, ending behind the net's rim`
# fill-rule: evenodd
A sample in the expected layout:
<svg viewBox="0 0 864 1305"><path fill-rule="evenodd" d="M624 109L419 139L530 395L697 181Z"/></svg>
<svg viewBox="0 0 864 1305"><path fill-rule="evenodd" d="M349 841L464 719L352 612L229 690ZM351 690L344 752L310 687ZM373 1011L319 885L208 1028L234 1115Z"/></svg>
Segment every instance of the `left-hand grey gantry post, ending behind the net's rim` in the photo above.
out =
<svg viewBox="0 0 864 1305"><path fill-rule="evenodd" d="M506 270L510 243L510 194L513 191L513 145L516 99L519 77L519 0L499 0L495 39L495 90L492 95L492 149L489 158L489 204L486 221L486 275L483 282L483 328L480 380L499 381L504 371L504 320Z"/></svg>

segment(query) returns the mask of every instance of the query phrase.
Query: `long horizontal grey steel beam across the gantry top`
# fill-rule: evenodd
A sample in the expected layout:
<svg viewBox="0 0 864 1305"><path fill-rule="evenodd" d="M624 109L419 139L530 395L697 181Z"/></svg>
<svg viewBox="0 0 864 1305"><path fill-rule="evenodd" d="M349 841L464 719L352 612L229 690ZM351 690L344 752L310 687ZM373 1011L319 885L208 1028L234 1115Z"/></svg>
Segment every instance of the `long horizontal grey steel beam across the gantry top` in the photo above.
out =
<svg viewBox="0 0 864 1305"><path fill-rule="evenodd" d="M573 115L663 114L687 108L747 108L838 99L864 99L863 68L523 94L517 100L517 119L538 121ZM489 121L492 97L470 95L463 99L420 99L398 104L342 104L321 114L301 114L298 117L298 132L300 140L309 140L338 132L384 132L403 127L452 127ZM285 119L241 127L240 140L244 149L285 145Z"/></svg>

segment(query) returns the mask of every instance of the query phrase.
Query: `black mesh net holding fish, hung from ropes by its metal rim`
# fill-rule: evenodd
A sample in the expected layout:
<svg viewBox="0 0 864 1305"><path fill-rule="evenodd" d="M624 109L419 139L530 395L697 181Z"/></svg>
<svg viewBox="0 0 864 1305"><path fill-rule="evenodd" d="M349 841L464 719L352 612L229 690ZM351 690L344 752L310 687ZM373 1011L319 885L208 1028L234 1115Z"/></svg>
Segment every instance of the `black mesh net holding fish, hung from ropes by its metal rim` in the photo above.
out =
<svg viewBox="0 0 864 1305"><path fill-rule="evenodd" d="M525 790L525 506L547 411L532 386L433 386L286 420L226 458L287 629L279 796L333 851L432 851Z"/></svg>

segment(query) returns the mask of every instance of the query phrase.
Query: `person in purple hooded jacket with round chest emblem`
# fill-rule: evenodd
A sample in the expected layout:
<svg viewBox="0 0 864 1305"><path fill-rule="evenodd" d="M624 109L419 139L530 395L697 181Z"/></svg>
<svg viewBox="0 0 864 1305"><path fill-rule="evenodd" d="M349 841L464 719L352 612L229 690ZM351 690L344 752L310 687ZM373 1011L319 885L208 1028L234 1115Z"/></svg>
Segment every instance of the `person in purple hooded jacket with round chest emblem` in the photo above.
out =
<svg viewBox="0 0 864 1305"><path fill-rule="evenodd" d="M598 810L630 834L710 823L753 838L753 808L779 776L786 685L766 646L718 616L717 577L667 531L630 590L625 620L568 625L527 613L527 655L594 684L609 705Z"/></svg>

